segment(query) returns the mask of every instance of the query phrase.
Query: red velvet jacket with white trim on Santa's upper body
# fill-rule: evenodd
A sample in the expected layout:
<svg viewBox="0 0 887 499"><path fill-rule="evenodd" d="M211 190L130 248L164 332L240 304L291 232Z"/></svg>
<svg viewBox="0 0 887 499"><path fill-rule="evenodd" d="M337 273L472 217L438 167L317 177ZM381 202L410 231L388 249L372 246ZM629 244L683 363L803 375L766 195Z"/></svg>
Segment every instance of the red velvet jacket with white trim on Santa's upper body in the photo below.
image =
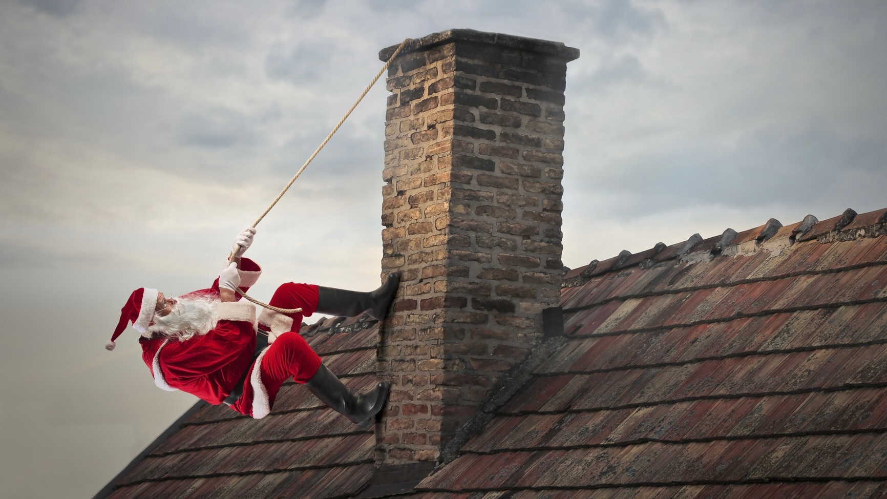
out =
<svg viewBox="0 0 887 499"><path fill-rule="evenodd" d="M244 292L255 284L261 267L248 258L240 263ZM183 297L219 298L219 280L208 289ZM239 300L240 297L238 296ZM151 369L154 384L164 390L191 393L210 404L220 404L249 368L255 349L255 305L247 301L219 302L216 327L185 341L167 337L140 337L142 360Z"/></svg>

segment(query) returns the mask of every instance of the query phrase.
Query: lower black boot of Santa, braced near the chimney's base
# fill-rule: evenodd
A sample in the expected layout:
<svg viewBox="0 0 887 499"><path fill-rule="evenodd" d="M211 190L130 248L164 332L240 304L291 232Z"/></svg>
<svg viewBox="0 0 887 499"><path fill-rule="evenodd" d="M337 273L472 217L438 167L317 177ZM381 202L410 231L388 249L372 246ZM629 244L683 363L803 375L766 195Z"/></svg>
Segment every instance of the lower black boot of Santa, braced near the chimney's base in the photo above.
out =
<svg viewBox="0 0 887 499"><path fill-rule="evenodd" d="M380 381L373 390L355 395L341 384L332 371L320 364L318 372L305 384L311 393L336 412L345 415L351 423L363 425L379 414L388 400L391 384Z"/></svg>

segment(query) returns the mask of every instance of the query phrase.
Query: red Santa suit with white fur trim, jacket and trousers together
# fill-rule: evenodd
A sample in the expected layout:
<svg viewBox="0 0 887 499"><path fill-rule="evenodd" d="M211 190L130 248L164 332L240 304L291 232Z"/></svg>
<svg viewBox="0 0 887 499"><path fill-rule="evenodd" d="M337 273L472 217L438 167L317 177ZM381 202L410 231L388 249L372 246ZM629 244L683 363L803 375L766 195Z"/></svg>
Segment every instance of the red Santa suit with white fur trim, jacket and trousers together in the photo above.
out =
<svg viewBox="0 0 887 499"><path fill-rule="evenodd" d="M240 285L244 292L261 275L259 265L242 258ZM182 297L219 299L218 279L208 289ZM242 394L231 408L241 414L261 418L271 412L280 386L290 376L305 383L318 371L321 360L298 334L302 317L317 310L318 287L287 282L269 302L279 308L302 308L301 313L276 313L263 309L259 334L267 331L269 342L254 360L256 342L255 305L247 301L216 304L216 326L205 335L179 341L169 337L140 337L142 359L151 369L154 384L164 390L191 393L211 404L220 404L232 392L244 373Z"/></svg>

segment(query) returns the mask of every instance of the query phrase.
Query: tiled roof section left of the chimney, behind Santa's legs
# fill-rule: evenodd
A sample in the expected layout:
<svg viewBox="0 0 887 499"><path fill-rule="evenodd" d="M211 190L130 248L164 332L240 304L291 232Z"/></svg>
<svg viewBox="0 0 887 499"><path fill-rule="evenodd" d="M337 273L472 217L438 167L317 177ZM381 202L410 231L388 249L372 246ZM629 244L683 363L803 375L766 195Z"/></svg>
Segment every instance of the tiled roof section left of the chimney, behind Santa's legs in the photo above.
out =
<svg viewBox="0 0 887 499"><path fill-rule="evenodd" d="M301 333L351 390L376 383L376 321L340 317ZM373 426L357 428L292 381L263 419L224 405L198 406L174 424L180 428L168 440L115 478L107 496L347 497L373 475Z"/></svg>

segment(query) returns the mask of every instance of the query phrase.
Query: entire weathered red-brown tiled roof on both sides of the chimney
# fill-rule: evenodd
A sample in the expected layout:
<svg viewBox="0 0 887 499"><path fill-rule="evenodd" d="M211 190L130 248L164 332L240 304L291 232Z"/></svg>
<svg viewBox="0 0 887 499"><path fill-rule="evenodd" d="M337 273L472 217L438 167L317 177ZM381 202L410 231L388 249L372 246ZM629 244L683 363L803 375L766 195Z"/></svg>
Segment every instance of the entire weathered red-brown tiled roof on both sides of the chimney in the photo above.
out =
<svg viewBox="0 0 887 499"><path fill-rule="evenodd" d="M385 497L887 495L887 210L771 219L570 270L546 337L453 440ZM378 325L302 329L350 387ZM287 384L262 420L200 408L112 497L356 497L360 431ZM377 475L378 476L378 475Z"/></svg>

